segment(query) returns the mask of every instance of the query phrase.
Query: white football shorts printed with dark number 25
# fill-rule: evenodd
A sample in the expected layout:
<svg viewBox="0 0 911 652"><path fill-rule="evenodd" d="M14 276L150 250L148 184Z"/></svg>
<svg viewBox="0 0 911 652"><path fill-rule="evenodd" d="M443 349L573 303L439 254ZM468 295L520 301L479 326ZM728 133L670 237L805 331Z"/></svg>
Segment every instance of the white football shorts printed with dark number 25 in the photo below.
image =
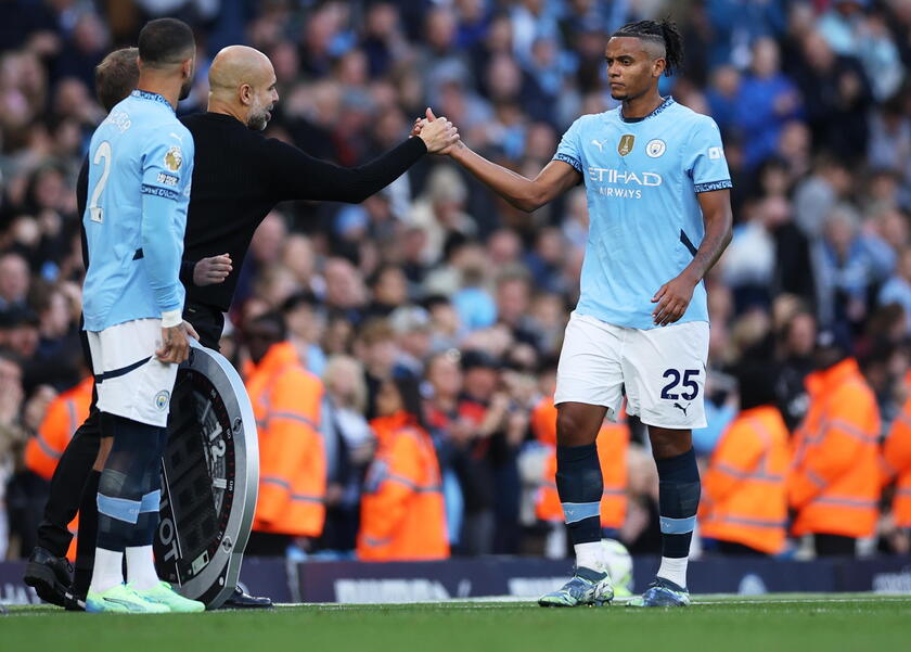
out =
<svg viewBox="0 0 911 652"><path fill-rule="evenodd" d="M560 353L554 402L604 406L616 421L626 388L627 412L646 425L705 427L707 358L705 321L641 330L574 311Z"/></svg>

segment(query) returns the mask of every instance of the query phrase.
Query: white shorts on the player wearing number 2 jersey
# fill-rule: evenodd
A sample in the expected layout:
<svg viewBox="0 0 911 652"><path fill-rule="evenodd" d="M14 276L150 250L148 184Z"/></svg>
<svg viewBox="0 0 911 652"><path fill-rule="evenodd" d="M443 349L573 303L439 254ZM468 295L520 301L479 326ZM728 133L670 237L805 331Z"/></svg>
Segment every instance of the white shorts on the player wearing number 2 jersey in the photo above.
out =
<svg viewBox="0 0 911 652"><path fill-rule="evenodd" d="M98 409L166 426L178 366L155 357L162 347L162 320L137 319L87 334Z"/></svg>

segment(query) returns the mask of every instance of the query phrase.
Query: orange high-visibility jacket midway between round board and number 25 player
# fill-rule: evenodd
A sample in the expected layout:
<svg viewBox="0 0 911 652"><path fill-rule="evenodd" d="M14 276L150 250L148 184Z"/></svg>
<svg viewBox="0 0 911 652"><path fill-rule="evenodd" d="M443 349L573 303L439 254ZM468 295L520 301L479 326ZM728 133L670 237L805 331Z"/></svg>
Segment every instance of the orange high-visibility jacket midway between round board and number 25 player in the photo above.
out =
<svg viewBox="0 0 911 652"><path fill-rule="evenodd" d="M378 447L361 498L358 557L446 559L449 541L439 462L431 436L405 412L370 422Z"/></svg>

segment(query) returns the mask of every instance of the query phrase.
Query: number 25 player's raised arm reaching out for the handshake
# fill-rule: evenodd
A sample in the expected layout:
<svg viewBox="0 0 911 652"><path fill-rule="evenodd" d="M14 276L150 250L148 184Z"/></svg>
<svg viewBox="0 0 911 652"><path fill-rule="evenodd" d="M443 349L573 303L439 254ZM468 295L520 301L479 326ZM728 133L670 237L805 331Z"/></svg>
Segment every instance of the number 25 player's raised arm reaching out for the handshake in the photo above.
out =
<svg viewBox="0 0 911 652"><path fill-rule="evenodd" d="M427 110L427 118L433 122L437 119L429 108ZM433 122L421 120L423 125L415 125L415 130L426 129ZM449 154L454 162L477 177L490 190L526 213L537 210L581 181L579 172L572 165L562 161L551 161L537 177L528 179L491 163L472 151L461 140L445 150L444 153Z"/></svg>

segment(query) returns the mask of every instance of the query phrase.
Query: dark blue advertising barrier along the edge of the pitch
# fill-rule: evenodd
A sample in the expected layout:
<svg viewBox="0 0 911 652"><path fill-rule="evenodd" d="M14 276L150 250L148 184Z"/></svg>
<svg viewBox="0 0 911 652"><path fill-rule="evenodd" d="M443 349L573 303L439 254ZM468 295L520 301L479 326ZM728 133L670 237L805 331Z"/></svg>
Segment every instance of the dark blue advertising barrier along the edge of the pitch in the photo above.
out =
<svg viewBox="0 0 911 652"><path fill-rule="evenodd" d="M657 558L636 558L636 590L658 567ZM711 558L694 561L694 593L876 591L911 593L911 557L811 562ZM485 558L445 562L363 563L246 558L241 585L275 602L414 602L512 596L534 598L560 586L572 562ZM39 603L22 583L24 562L0 562L0 603Z"/></svg>

